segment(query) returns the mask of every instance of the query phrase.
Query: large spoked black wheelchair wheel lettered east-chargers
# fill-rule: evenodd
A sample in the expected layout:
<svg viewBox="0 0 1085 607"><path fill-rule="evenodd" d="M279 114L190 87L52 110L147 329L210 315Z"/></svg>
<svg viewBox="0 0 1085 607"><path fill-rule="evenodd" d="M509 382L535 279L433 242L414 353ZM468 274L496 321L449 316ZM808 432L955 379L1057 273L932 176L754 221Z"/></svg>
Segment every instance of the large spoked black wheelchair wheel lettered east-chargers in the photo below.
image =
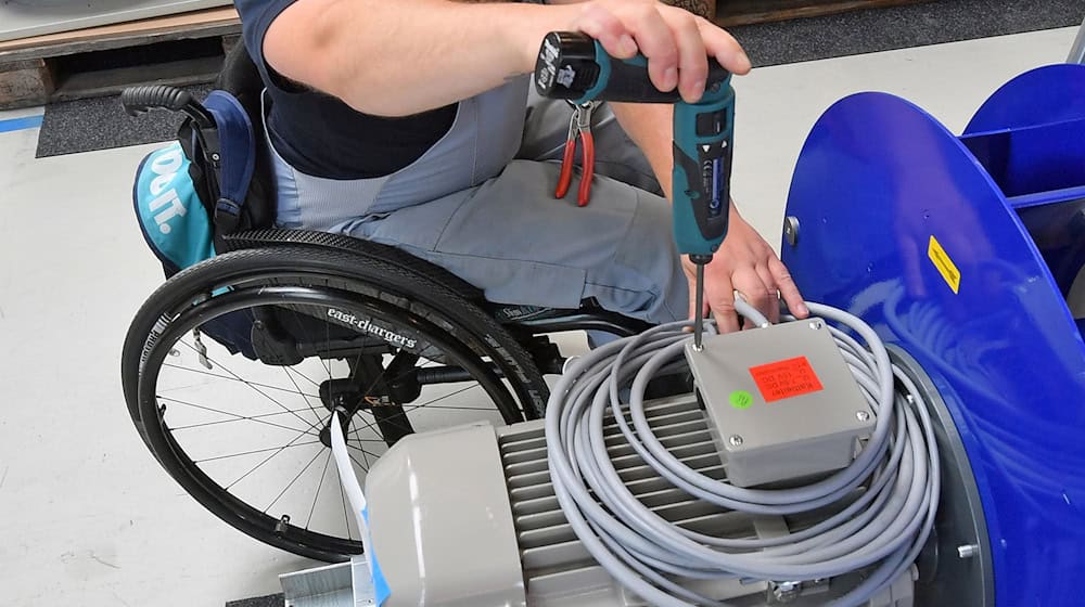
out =
<svg viewBox="0 0 1085 607"><path fill-rule="evenodd" d="M363 482L412 431L536 418L548 396L531 356L449 288L298 246L225 254L167 281L129 328L122 380L144 442L193 498L322 560L362 552L331 461L333 411Z"/></svg>

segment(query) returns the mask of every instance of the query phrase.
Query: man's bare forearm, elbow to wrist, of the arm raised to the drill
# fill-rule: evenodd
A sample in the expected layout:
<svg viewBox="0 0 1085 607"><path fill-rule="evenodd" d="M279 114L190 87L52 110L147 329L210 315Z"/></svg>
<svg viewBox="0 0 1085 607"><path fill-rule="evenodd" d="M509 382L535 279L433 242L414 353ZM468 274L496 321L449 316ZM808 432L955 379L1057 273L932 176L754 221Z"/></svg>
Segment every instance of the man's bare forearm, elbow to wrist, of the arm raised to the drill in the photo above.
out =
<svg viewBox="0 0 1085 607"><path fill-rule="evenodd" d="M406 116L500 86L534 68L546 33L575 7L447 0L299 0L265 39L291 80L374 115Z"/></svg>

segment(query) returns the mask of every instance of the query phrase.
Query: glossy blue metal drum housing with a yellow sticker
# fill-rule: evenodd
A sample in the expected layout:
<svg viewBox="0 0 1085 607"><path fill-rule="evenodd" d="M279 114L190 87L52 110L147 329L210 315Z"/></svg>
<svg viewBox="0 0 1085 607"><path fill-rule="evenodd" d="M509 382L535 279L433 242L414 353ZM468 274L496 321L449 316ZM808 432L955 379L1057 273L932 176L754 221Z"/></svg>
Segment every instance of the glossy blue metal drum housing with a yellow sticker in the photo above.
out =
<svg viewBox="0 0 1085 607"><path fill-rule="evenodd" d="M1085 263L1085 66L1019 76L960 137L899 98L848 96L810 131L787 215L803 295L861 317L945 400L995 604L1085 603L1085 322L1067 302Z"/></svg>

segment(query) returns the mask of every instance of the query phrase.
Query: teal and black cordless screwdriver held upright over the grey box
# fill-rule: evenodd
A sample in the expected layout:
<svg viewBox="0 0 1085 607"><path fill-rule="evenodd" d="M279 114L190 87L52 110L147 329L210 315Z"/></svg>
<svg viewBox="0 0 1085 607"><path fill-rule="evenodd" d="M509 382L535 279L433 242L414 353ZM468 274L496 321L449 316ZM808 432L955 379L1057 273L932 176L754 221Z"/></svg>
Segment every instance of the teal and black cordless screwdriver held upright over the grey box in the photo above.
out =
<svg viewBox="0 0 1085 607"><path fill-rule="evenodd" d="M701 348L704 266L727 235L730 202L735 90L730 73L709 59L705 92L686 103L648 76L648 60L612 57L599 41L579 33L551 31L535 64L539 94L575 105L596 101L674 104L674 234L678 251L697 264L694 348Z"/></svg>

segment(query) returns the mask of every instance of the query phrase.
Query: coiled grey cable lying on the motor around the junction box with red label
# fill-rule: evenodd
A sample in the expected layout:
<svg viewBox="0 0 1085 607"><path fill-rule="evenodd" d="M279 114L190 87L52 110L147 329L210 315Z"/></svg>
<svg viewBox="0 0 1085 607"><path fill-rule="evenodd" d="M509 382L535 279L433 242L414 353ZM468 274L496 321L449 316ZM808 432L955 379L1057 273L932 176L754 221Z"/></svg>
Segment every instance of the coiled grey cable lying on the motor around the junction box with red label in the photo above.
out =
<svg viewBox="0 0 1085 607"><path fill-rule="evenodd" d="M687 467L654 436L644 412L644 388L654 376L685 363L684 348L692 338L689 322L656 326L598 348L570 364L554 387L546 435L561 508L592 557L650 604L727 605L682 586L675 578L782 582L865 570L859 585L830 603L859 606L904 573L930 535L941 479L926 403L912 382L893 367L873 330L842 310L817 304L808 307L812 314L858 336L830 327L877 422L851 466L807 486L735 487ZM767 324L741 299L736 309L754 324ZM894 389L894 378L901 391ZM627 403L620 398L625 388ZM637 500L618 477L603 439L608 413L647 465L712 504L754 515L793 515L835 503L846 505L809 528L771 539L714 538L674 526ZM855 499L859 488L863 492ZM848 496L852 501L846 501Z"/></svg>

